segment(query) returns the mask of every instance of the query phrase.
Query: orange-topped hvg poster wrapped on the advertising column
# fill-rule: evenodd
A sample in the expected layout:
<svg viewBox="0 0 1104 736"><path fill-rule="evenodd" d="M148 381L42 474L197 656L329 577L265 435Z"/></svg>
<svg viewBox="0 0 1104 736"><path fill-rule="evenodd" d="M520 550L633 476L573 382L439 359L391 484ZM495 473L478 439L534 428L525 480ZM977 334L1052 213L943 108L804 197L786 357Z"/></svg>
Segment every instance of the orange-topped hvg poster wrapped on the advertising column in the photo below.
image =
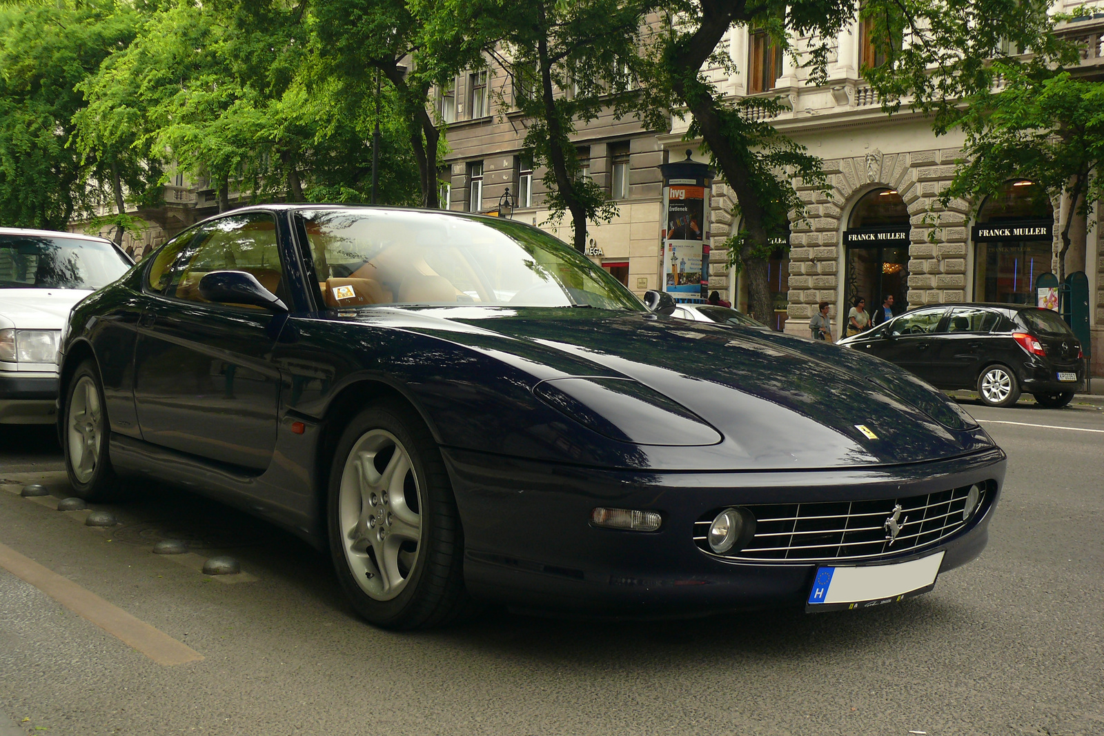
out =
<svg viewBox="0 0 1104 736"><path fill-rule="evenodd" d="M700 297L702 284L705 188L672 183L667 195L665 233L665 290L676 296Z"/></svg>

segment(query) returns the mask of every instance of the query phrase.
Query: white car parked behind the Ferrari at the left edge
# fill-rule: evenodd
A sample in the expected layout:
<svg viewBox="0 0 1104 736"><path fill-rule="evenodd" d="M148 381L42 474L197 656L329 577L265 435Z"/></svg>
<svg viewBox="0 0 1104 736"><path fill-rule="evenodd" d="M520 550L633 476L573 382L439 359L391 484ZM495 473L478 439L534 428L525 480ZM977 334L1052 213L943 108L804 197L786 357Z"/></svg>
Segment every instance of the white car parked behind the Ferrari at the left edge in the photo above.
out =
<svg viewBox="0 0 1104 736"><path fill-rule="evenodd" d="M0 424L53 424L73 306L134 263L103 237L0 227Z"/></svg>

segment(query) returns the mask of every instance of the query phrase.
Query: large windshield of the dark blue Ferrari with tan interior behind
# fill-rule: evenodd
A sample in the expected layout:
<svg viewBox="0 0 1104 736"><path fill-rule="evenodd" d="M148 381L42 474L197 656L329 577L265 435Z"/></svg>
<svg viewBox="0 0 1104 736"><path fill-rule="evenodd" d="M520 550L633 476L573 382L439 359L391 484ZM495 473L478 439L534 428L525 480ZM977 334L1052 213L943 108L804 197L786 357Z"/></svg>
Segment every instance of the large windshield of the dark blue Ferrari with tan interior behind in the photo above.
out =
<svg viewBox="0 0 1104 736"><path fill-rule="evenodd" d="M429 212L300 213L329 307L509 305L646 311L590 258L528 225Z"/></svg>

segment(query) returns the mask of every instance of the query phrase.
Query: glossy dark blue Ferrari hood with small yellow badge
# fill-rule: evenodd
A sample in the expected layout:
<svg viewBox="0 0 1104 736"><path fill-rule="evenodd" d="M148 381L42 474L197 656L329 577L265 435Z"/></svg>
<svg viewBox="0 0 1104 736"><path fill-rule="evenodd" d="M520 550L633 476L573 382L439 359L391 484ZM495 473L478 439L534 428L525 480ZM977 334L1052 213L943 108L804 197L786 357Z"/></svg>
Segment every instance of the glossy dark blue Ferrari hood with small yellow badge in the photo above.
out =
<svg viewBox="0 0 1104 736"><path fill-rule="evenodd" d="M708 447L669 448L694 455L696 467L898 465L992 447L968 415L896 366L777 332L594 309L376 309L354 319L484 352L534 385L633 378L720 433Z"/></svg>

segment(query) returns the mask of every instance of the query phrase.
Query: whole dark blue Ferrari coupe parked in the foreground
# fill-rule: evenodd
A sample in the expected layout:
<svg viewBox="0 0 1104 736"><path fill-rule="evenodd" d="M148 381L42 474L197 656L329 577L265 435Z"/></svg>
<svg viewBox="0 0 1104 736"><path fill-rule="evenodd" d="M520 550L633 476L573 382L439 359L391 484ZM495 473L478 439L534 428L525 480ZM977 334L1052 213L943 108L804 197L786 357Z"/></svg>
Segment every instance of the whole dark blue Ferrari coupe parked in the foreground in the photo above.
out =
<svg viewBox="0 0 1104 736"><path fill-rule="evenodd" d="M510 220L236 210L74 310L70 481L95 499L139 476L269 519L395 628L470 599L857 608L981 552L1006 458L954 402L648 297Z"/></svg>

